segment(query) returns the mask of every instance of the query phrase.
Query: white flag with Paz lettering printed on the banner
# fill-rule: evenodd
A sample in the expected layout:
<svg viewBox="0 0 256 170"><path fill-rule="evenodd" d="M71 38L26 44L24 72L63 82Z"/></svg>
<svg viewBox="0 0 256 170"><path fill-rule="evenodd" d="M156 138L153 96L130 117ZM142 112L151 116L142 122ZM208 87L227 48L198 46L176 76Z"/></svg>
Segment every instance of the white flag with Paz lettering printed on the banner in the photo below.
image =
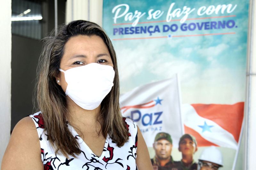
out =
<svg viewBox="0 0 256 170"><path fill-rule="evenodd" d="M183 134L179 89L176 74L173 78L142 85L121 95L123 116L136 122L148 147L153 146L159 132L169 133L173 146L178 147Z"/></svg>

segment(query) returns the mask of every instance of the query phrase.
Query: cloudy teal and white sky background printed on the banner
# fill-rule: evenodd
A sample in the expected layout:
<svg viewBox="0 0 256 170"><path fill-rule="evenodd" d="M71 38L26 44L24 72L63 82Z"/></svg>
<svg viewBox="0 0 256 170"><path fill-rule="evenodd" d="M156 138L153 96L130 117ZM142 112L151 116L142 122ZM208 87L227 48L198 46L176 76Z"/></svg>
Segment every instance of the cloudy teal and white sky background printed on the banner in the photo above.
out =
<svg viewBox="0 0 256 170"><path fill-rule="evenodd" d="M148 2L148 1L147 1ZM149 9L162 10L167 13L170 1L154 1L150 6L146 1L127 1L130 4L129 12L139 10L147 12ZM112 39L117 57L120 72L121 92L127 92L132 88L171 78L175 73L179 73L181 81L181 94L183 103L225 103L232 104L244 101L245 90L245 67L246 67L246 36L248 20L244 19L248 15L248 1L228 1L221 4L237 4L236 9L230 14L212 14L201 17L215 17L224 15L235 15L230 18L212 18L201 20L187 20L191 22L222 21L232 19L236 23L236 28L212 29L176 32L161 32L149 34L127 34L113 35L113 28L131 27L131 25L113 26L112 8L115 5L123 4L124 1L106 1L109 8L104 9L103 27ZM143 5L143 3L145 3ZM166 3L166 6L163 5ZM150 3L149 3L150 4ZM152 5L154 4L154 5ZM188 6L198 9L201 6L218 5L215 1L182 1L175 2L173 8ZM165 20L165 16L157 20ZM188 18L199 18L195 13L191 13ZM175 18L180 19L180 18ZM146 17L140 22L148 21ZM117 19L116 23L127 23L124 18ZM111 23L109 25L109 23ZM176 23L150 23L138 24L137 26L156 26L160 28L164 24ZM121 40L118 38L133 37L154 37L172 35L191 35L205 33L227 33L227 35L209 35L194 37L172 37L144 40ZM239 82L239 83L238 83ZM207 94L207 95L206 95ZM196 97L195 97L196 96Z"/></svg>

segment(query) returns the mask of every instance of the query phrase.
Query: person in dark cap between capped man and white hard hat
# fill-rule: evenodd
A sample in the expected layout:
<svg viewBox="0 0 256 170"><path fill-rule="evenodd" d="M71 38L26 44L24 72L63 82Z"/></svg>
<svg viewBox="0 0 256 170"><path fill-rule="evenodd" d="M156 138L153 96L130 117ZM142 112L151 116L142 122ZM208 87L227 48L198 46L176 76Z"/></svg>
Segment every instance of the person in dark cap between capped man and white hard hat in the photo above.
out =
<svg viewBox="0 0 256 170"><path fill-rule="evenodd" d="M182 154L182 159L176 163L177 169L196 170L197 163L193 159L194 153L197 151L196 138L190 134L180 137L179 151Z"/></svg>

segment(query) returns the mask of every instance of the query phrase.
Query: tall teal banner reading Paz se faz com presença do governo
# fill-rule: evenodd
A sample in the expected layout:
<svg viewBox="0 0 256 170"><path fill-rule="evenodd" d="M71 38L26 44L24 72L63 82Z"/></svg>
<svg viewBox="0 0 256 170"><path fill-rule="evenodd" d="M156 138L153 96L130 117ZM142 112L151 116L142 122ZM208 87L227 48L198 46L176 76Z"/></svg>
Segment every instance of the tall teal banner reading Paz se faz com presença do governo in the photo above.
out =
<svg viewBox="0 0 256 170"><path fill-rule="evenodd" d="M197 169L206 166L204 155L214 153L218 160L208 162L223 170L234 170L233 164L236 170L242 169L243 153L238 149L244 117L248 6L249 0L103 1L103 28L116 50L120 90L130 96L121 98L122 111L142 129L154 168ZM156 90L160 87L156 85L153 95L147 86L175 74L181 101L177 115L172 110L178 105L167 106ZM141 95L145 100L138 99ZM162 105L156 104L158 99ZM166 129L150 129L159 127L154 114L162 111L166 117L160 119L161 126ZM168 116L182 119L171 127ZM180 134L183 128L187 135ZM160 166L160 159L169 161Z"/></svg>

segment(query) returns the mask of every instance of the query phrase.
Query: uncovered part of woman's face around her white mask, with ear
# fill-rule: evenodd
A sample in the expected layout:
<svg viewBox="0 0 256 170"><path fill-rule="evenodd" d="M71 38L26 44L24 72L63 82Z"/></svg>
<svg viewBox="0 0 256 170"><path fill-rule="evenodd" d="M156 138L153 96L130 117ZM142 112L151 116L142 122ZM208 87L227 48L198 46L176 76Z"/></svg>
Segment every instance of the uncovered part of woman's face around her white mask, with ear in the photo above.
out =
<svg viewBox="0 0 256 170"><path fill-rule="evenodd" d="M97 35L77 35L71 37L64 47L60 68L64 71L90 63L99 63L113 67L111 56L104 41ZM64 73L60 71L56 81L64 92L67 89Z"/></svg>

